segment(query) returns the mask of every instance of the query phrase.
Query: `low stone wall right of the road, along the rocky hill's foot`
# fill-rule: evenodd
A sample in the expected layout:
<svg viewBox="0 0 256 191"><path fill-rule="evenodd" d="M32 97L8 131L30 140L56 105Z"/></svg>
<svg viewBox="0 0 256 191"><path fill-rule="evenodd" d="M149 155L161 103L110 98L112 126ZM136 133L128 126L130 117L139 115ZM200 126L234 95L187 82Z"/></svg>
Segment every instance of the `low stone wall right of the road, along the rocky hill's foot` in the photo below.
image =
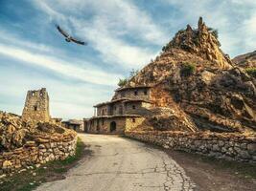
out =
<svg viewBox="0 0 256 191"><path fill-rule="evenodd" d="M126 132L128 138L217 159L256 162L256 137L231 133Z"/></svg>

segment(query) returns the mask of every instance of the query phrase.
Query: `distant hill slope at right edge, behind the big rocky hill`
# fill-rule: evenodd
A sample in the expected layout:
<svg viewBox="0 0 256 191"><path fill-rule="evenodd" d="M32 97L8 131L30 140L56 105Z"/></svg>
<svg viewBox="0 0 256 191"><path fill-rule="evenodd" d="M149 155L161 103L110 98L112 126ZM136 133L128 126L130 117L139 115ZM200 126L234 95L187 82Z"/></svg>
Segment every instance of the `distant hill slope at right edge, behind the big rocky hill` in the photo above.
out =
<svg viewBox="0 0 256 191"><path fill-rule="evenodd" d="M244 53L242 55L238 55L234 57L232 61L242 68L256 67L256 51L252 53Z"/></svg>

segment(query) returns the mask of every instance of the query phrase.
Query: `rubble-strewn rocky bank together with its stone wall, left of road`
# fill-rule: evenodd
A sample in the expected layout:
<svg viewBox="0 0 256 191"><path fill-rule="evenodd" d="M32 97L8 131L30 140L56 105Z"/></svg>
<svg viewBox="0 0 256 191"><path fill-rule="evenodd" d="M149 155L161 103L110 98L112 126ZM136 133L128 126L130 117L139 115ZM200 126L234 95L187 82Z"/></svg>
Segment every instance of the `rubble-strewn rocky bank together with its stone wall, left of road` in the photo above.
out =
<svg viewBox="0 0 256 191"><path fill-rule="evenodd" d="M0 112L0 133L0 175L75 154L77 133L56 124L22 121L21 117Z"/></svg>

